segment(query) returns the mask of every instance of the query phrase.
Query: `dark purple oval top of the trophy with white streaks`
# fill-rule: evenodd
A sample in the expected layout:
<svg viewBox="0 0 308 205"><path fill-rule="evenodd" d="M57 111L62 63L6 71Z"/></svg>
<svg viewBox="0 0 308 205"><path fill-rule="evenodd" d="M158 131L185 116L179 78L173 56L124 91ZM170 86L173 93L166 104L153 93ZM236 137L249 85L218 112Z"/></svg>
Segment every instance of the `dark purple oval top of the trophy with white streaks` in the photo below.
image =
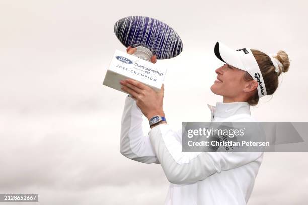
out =
<svg viewBox="0 0 308 205"><path fill-rule="evenodd" d="M179 35L167 24L150 17L122 18L115 23L114 33L125 47L137 47L139 53L156 55L157 59L176 57L183 50Z"/></svg>

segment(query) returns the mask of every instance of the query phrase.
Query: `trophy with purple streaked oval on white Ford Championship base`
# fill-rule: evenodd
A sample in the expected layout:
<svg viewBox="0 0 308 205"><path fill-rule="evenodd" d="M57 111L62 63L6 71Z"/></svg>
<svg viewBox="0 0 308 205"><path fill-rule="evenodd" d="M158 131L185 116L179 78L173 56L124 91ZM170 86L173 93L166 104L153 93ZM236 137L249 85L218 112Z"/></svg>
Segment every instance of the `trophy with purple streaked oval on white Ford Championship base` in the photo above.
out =
<svg viewBox="0 0 308 205"><path fill-rule="evenodd" d="M136 48L132 56L139 60L116 51L103 84L122 91L119 81L131 78L155 90L160 89L166 68L150 63L151 58L156 55L157 59L169 59L179 55L183 50L179 35L167 24L143 16L118 20L114 25L114 33L126 48Z"/></svg>

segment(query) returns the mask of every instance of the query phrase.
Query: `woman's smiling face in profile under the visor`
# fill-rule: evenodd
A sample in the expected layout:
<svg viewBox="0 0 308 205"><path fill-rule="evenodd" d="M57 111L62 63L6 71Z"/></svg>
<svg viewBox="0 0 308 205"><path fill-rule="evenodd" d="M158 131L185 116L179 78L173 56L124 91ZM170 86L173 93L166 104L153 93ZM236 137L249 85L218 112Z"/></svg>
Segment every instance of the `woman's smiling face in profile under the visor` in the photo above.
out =
<svg viewBox="0 0 308 205"><path fill-rule="evenodd" d="M216 69L215 72L217 73L217 79L211 86L211 91L214 94L227 98L236 98L243 94L245 71L225 64Z"/></svg>

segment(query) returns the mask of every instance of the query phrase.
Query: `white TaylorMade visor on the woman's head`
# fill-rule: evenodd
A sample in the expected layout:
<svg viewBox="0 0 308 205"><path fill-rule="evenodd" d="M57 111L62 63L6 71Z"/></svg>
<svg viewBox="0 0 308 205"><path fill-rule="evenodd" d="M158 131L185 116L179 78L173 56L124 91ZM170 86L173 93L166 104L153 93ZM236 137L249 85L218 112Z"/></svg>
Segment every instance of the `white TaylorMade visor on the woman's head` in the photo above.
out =
<svg viewBox="0 0 308 205"><path fill-rule="evenodd" d="M233 50L217 42L214 48L215 55L221 61L238 69L247 71L258 82L259 99L266 95L265 83L259 65L249 48Z"/></svg>

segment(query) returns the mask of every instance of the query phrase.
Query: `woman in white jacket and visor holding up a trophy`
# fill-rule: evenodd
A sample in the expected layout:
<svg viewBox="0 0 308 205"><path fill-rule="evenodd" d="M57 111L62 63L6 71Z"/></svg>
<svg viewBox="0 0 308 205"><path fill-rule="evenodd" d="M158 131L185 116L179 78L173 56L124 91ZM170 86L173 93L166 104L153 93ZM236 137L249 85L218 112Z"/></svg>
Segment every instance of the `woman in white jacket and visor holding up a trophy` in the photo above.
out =
<svg viewBox="0 0 308 205"><path fill-rule="evenodd" d="M128 53L133 52L128 48ZM223 96L223 102L209 105L211 121L254 122L250 106L275 92L278 76L289 69L287 54L232 50L220 42L214 52L225 65L216 69L217 80L211 86L214 94ZM152 62L156 62L155 57ZM134 80L120 83L132 96L125 101L120 151L139 162L161 164L171 182L165 204L248 202L263 152L182 152L181 130L173 131L165 119L164 87L156 93ZM151 124L148 135L142 131L142 114Z"/></svg>

